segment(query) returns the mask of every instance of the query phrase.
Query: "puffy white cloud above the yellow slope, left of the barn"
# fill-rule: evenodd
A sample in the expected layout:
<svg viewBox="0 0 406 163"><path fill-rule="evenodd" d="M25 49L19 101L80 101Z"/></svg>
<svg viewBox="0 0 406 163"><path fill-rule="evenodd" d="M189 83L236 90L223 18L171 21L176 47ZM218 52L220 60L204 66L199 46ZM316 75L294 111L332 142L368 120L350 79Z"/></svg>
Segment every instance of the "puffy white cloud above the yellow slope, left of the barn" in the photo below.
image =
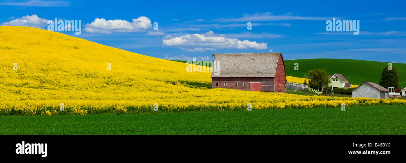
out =
<svg viewBox="0 0 406 163"><path fill-rule="evenodd" d="M106 20L104 18L96 18L91 24L84 25L86 32L111 34L112 32L139 32L145 31L152 27L151 20L148 17L140 16L137 19L132 19L132 23L121 20Z"/></svg>

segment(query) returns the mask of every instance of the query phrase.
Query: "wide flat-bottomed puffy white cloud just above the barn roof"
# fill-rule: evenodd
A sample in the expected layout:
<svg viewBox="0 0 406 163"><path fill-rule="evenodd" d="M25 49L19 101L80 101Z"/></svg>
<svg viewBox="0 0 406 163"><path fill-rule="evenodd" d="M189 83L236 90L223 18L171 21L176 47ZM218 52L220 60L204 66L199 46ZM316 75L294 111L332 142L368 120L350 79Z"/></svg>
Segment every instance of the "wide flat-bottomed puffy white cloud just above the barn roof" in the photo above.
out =
<svg viewBox="0 0 406 163"><path fill-rule="evenodd" d="M223 36L218 36L213 31L206 32L205 34L185 34L183 36L172 37L165 36L162 39L163 47L178 47L178 48L212 48L212 49L267 49L267 43L257 43L255 41L239 39L231 39ZM212 50L210 49L210 50Z"/></svg>

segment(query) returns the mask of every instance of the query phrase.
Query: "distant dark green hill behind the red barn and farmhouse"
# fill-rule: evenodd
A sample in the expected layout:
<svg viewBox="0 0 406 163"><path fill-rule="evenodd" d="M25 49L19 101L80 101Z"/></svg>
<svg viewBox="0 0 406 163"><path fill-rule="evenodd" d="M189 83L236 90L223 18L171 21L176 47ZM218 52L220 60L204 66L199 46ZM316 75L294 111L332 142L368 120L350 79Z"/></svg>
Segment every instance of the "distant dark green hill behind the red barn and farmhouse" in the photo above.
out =
<svg viewBox="0 0 406 163"><path fill-rule="evenodd" d="M184 60L174 60L186 62ZM299 70L294 70L294 64L299 64ZM400 87L406 87L406 64L392 63L393 68L399 75ZM285 60L286 75L294 77L304 77L309 70L326 69L328 75L341 73L344 77L350 77L349 82L360 85L363 82L374 82L379 84L382 70L388 66L388 62L375 62L367 60L348 59L300 59Z"/></svg>

